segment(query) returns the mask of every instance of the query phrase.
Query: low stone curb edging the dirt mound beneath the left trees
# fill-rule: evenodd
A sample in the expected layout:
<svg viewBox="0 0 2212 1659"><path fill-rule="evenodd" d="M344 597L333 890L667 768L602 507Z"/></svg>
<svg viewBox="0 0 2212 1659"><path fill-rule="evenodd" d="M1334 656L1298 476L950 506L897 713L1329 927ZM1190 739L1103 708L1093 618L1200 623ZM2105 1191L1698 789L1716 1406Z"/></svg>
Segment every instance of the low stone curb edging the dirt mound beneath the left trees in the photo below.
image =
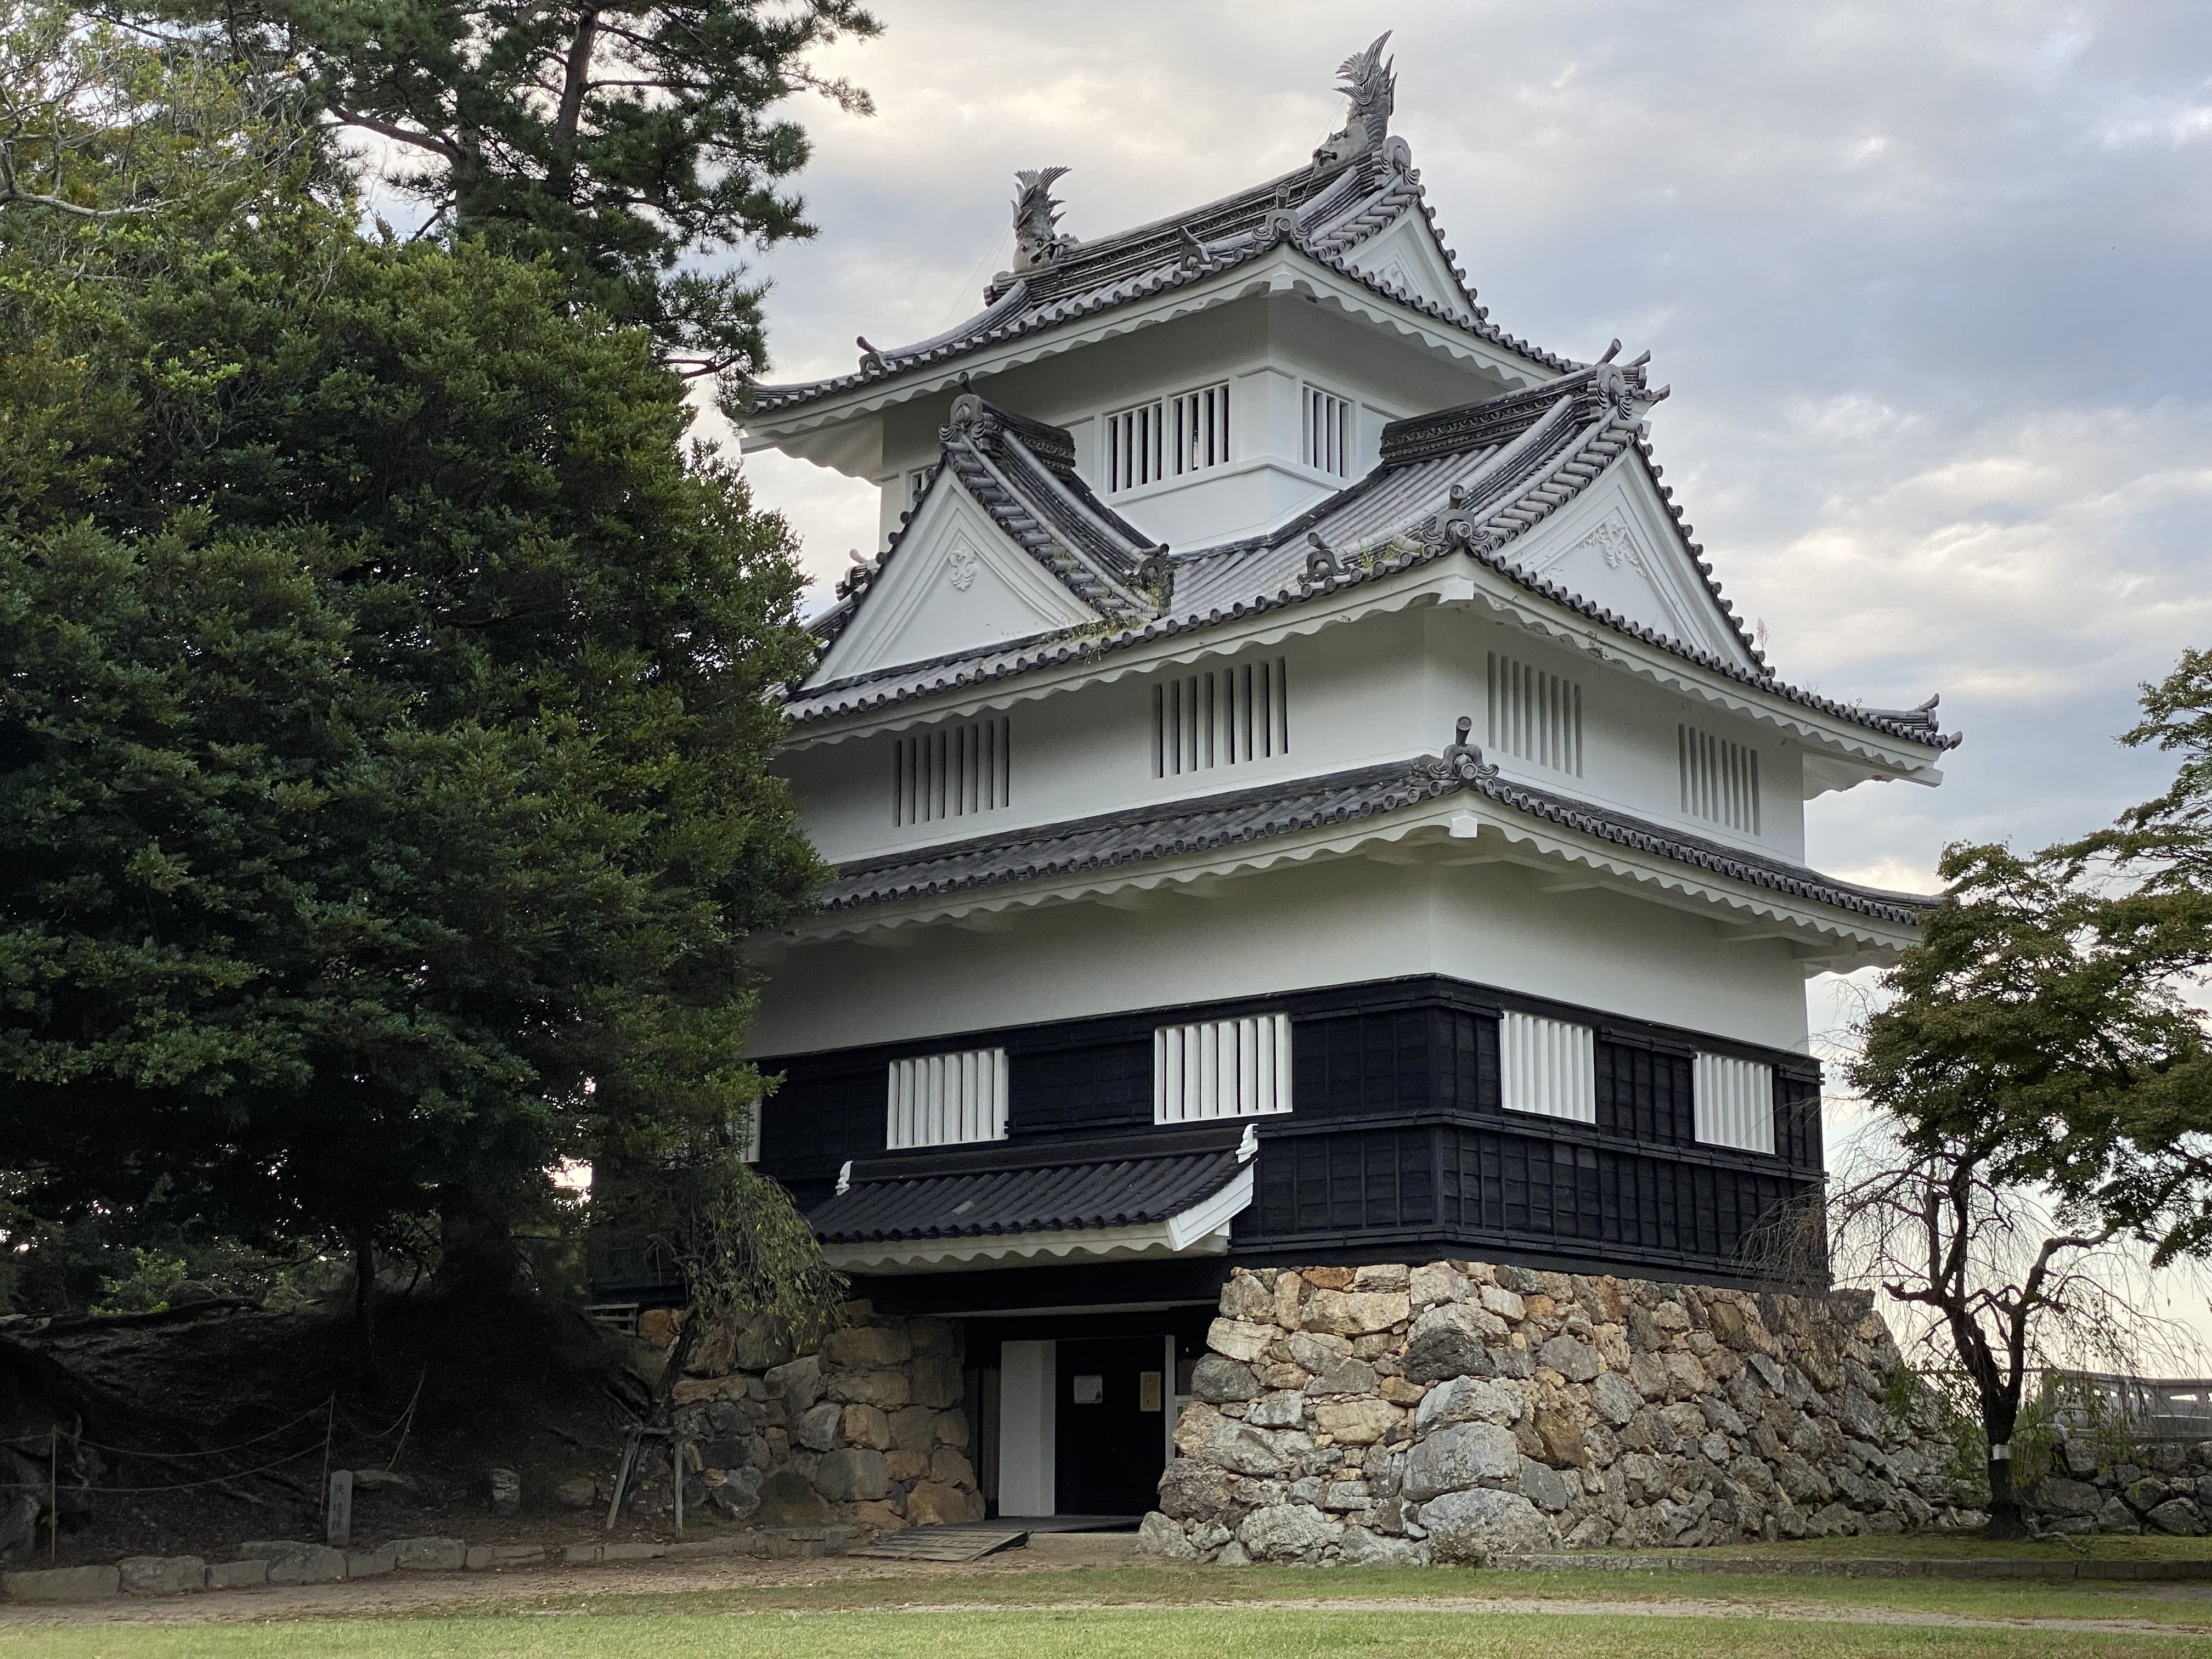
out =
<svg viewBox="0 0 2212 1659"><path fill-rule="evenodd" d="M290 1548L285 1548L290 1544ZM204 1562L197 1555L133 1555L122 1564L58 1566L0 1573L7 1601L104 1601L117 1595L192 1595L197 1590L241 1590L265 1584L334 1584L387 1577L392 1573L495 1573L509 1566L599 1566L602 1562L701 1562L717 1555L838 1555L852 1544L849 1526L774 1526L730 1537L695 1537L679 1544L467 1544L458 1537L396 1537L372 1551L332 1551L290 1540L257 1544L261 1553L239 1562ZM303 1562L312 1562L303 1568Z"/></svg>

